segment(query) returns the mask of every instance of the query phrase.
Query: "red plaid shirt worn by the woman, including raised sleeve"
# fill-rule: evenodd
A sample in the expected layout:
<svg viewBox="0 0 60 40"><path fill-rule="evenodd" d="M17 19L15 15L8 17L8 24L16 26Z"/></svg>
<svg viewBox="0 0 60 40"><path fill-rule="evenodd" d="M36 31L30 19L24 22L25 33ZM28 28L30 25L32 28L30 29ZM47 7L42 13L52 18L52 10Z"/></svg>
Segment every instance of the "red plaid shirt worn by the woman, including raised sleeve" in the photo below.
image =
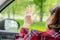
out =
<svg viewBox="0 0 60 40"><path fill-rule="evenodd" d="M60 34L53 30L47 30L45 32L32 30L29 32L28 29L22 28L20 35L23 37L22 40L60 40Z"/></svg>

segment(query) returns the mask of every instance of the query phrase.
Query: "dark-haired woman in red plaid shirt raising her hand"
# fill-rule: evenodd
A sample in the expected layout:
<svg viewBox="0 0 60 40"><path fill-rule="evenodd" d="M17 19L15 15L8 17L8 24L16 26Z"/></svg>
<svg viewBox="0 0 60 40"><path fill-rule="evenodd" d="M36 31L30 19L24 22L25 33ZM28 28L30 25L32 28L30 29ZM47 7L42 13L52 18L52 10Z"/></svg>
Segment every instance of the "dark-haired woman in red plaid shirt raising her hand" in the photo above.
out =
<svg viewBox="0 0 60 40"><path fill-rule="evenodd" d="M60 4L50 10L50 17L46 21L46 31L32 30L29 25L33 23L31 7L28 6L25 13L23 27L20 30L22 40L60 40Z"/></svg>

